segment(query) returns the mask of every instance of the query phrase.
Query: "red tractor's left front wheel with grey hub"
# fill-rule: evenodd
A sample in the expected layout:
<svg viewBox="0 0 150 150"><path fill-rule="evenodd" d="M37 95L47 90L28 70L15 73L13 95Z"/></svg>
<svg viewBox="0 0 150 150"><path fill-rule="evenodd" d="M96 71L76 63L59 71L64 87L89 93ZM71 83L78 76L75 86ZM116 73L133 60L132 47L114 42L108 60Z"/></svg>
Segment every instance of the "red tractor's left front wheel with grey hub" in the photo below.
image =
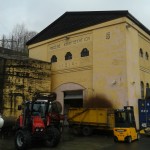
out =
<svg viewBox="0 0 150 150"><path fill-rule="evenodd" d="M15 135L15 147L17 150L25 150L31 144L31 135L27 130L18 130Z"/></svg>

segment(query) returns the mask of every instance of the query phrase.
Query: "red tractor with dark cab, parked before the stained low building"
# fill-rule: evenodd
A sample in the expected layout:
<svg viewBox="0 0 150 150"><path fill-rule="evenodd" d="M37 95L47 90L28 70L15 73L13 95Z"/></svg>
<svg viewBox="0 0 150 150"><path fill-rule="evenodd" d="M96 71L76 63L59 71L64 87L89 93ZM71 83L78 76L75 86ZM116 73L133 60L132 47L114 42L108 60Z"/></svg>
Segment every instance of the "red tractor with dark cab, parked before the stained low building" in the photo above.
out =
<svg viewBox="0 0 150 150"><path fill-rule="evenodd" d="M22 110L22 115L16 123L16 149L27 149L33 140L43 141L48 147L59 143L64 117L55 93L36 93L32 101L25 101L18 110Z"/></svg>

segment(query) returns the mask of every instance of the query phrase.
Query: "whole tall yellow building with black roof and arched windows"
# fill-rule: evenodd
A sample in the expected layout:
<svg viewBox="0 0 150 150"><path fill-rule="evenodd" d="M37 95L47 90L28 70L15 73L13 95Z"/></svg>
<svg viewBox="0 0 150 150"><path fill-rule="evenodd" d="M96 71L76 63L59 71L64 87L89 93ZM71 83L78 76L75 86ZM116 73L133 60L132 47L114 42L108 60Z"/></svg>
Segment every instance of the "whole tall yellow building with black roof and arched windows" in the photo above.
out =
<svg viewBox="0 0 150 150"><path fill-rule="evenodd" d="M66 12L28 43L31 58L51 62L51 90L79 107L103 95L132 105L150 82L150 31L128 11Z"/></svg>

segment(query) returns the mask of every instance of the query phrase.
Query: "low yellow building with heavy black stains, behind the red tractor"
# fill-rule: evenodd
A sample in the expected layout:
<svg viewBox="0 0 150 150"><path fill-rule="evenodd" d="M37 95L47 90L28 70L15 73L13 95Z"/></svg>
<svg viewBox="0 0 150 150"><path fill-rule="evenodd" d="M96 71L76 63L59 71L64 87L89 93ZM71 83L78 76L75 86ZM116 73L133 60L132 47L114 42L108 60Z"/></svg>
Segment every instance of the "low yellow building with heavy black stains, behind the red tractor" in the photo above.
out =
<svg viewBox="0 0 150 150"><path fill-rule="evenodd" d="M0 53L0 113L3 117L15 117L20 114L18 105L32 100L35 92L51 91L51 64L6 53Z"/></svg>

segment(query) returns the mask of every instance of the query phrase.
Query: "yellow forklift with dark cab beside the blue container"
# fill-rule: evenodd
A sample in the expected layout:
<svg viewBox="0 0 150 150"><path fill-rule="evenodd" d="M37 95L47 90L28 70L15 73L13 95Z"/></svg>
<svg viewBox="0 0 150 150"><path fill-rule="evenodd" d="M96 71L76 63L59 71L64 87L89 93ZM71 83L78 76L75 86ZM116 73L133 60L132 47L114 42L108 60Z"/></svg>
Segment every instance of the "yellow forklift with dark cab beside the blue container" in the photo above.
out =
<svg viewBox="0 0 150 150"><path fill-rule="evenodd" d="M114 141L131 143L139 140L140 134L136 129L133 106L115 110Z"/></svg>

